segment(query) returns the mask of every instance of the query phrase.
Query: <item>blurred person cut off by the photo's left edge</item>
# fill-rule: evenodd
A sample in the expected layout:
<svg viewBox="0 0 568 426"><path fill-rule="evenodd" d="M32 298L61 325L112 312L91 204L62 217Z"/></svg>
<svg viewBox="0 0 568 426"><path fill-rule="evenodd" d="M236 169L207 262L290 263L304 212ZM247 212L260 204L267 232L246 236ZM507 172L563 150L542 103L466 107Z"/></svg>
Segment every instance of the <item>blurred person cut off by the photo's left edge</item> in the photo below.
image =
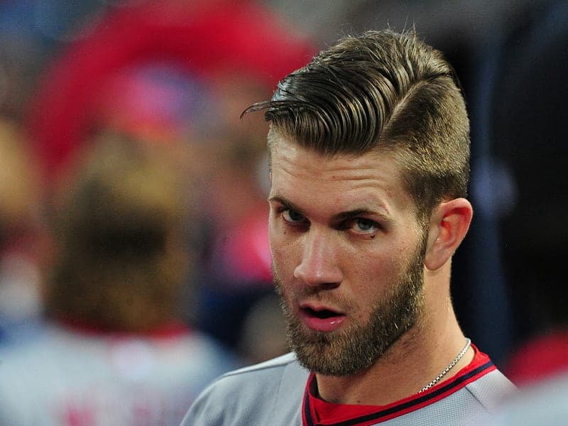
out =
<svg viewBox="0 0 568 426"><path fill-rule="evenodd" d="M37 165L15 119L0 118L0 344L41 329L41 262Z"/></svg>

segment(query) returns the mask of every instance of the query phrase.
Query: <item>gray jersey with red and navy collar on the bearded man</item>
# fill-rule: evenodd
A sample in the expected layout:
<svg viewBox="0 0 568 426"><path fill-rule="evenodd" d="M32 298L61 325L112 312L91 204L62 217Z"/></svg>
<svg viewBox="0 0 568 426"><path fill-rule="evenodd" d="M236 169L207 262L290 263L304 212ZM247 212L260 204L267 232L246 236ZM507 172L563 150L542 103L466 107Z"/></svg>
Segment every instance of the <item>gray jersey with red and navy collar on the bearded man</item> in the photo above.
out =
<svg viewBox="0 0 568 426"><path fill-rule="evenodd" d="M227 373L197 398L182 426L471 425L515 390L488 356L476 351L469 366L425 393L320 423L310 378L293 354Z"/></svg>

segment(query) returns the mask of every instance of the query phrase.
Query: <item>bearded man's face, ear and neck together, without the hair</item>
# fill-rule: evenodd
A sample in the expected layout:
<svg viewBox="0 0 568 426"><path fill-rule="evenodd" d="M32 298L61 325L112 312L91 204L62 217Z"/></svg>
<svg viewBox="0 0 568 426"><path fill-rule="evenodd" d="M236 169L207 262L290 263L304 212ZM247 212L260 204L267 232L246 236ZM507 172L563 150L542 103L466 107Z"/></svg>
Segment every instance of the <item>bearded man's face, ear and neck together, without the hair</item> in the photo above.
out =
<svg viewBox="0 0 568 426"><path fill-rule="evenodd" d="M424 229L394 156L327 158L281 135L273 141L269 236L290 345L315 371L324 399L408 396L464 344L449 301L449 259L471 205L442 203ZM325 312L315 323L314 311ZM434 355L440 347L447 356ZM403 369L410 374L400 378ZM395 377L397 392L369 400L370 387Z"/></svg>

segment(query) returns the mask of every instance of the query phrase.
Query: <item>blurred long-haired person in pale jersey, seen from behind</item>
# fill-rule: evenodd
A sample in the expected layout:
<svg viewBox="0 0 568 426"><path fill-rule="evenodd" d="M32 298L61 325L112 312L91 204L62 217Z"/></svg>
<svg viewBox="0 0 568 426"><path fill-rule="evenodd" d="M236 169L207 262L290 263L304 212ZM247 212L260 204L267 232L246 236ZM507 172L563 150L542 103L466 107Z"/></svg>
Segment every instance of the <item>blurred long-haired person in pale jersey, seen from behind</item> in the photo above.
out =
<svg viewBox="0 0 568 426"><path fill-rule="evenodd" d="M49 324L0 351L1 425L178 425L238 364L180 318L184 178L163 146L102 133L55 197Z"/></svg>

